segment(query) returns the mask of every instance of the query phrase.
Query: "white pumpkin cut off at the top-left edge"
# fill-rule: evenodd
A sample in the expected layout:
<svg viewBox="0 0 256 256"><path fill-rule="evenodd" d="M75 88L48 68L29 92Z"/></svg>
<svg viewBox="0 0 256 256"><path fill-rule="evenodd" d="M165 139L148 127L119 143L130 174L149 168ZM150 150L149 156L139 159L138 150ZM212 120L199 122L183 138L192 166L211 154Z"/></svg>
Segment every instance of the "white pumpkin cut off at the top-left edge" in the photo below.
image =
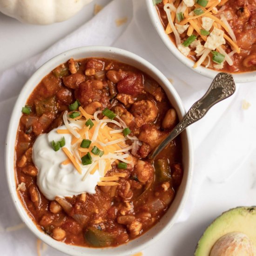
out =
<svg viewBox="0 0 256 256"><path fill-rule="evenodd" d="M0 12L21 22L46 25L67 20L92 0L0 0Z"/></svg>

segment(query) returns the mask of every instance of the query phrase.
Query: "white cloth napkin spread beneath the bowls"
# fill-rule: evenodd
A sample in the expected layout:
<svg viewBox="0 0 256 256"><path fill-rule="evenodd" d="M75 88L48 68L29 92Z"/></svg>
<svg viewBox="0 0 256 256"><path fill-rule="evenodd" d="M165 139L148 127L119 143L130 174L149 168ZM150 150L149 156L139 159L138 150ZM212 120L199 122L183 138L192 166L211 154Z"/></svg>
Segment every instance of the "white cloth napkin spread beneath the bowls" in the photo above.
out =
<svg viewBox="0 0 256 256"><path fill-rule="evenodd" d="M125 17L128 21L117 27L115 20ZM21 223L9 196L4 169L5 137L13 104L24 83L43 63L63 51L87 45L120 47L145 58L173 81L187 110L211 82L185 67L168 51L151 25L144 0L113 0L92 20L44 53L0 74L0 248L7 256L21 255L21 251L27 256L36 255L36 239L28 229L7 231L8 227ZM235 95L217 104L206 117L191 126L194 177L180 222L188 218L206 177L214 182L225 182L256 147L255 99L254 83L237 85ZM63 254L48 249L44 255Z"/></svg>

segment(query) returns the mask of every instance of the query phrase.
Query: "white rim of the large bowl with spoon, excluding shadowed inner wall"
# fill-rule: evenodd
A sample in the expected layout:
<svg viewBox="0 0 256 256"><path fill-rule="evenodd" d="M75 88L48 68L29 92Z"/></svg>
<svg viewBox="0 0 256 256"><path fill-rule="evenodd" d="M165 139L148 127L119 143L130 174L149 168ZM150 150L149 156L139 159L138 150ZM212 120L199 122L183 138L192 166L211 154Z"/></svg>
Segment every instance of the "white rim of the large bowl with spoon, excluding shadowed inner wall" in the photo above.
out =
<svg viewBox="0 0 256 256"><path fill-rule="evenodd" d="M187 180L185 183L183 195L181 195L181 200L178 203L177 210L175 211L174 215L168 220L168 225L163 227L158 233L156 233L156 235L152 239L148 240L146 243L137 245L132 249L131 248L128 249L129 251L127 249L125 249L125 245L132 243L132 241L136 241L136 240L140 239L140 237L145 236L145 234L147 234L149 231L147 231L144 235L136 238L135 240L128 242L127 244L120 245L118 247L110 247L110 248L104 248L104 249L101 249L101 248L93 248L92 249L92 248L88 248L88 247L74 246L74 245L69 245L69 244L63 243L63 242L59 242L59 241L54 240L52 237L46 235L45 233L43 233L43 231L41 231L40 229L38 229L38 227L32 221L32 218L29 216L26 209L23 207L23 204L20 201L20 197L18 196L18 193L16 191L16 175L15 175L15 161L14 161L13 145L15 145L18 125L15 125L15 123L19 124L20 116L21 116L20 106L23 106L24 102L26 102L27 98L28 98L26 93L29 92L29 95L30 95L33 92L34 88L38 84L37 83L36 85L34 85L34 80L36 80L38 78L40 78L40 80L41 80L46 74L43 76L40 76L39 74L45 73L46 69L49 69L51 71L52 69L54 69L54 67L57 67L61 63L64 63L65 61L63 61L63 60L67 61L69 58L71 58L75 54L82 55L82 54L89 54L90 52L98 52L99 54L102 54L102 58L104 58L104 54L109 54L109 53L114 54L116 56L116 59L118 58L118 56L123 56L125 58L130 59L131 61L134 61L134 62L141 64L142 66L148 68L149 70L152 71L152 73L155 73L155 75L162 81L162 83L165 86L168 85L167 86L168 91L175 98L175 103L177 104L176 108L179 108L181 115L183 116L186 113L185 108L182 104L182 100L179 97L178 93L176 92L175 88L171 85L170 81L168 81L168 79L155 66L153 66L151 63L144 60L140 56L138 56L134 53L128 52L126 50L123 50L123 49L119 49L119 48L115 48L115 47L106 47L106 46L86 46L86 47L78 47L78 48L74 48L74 49L65 51L61 54L56 55L55 57L48 60L47 62L45 62L41 67L39 67L34 72L34 74L24 84L24 86L21 89L20 94L14 104L13 111L12 111L11 118L10 118L9 125L8 125L8 129L7 129L6 145L5 145L5 169L6 169L7 184L8 184L8 189L9 189L9 193L11 195L12 201L14 203L14 206L15 206L22 222L24 222L26 224L26 226L28 227L28 229L30 229L30 231L35 236L37 236L40 240L42 240L44 243L47 243L49 246L51 246L55 249L58 249L61 252L68 253L68 254L74 255L74 256L81 256L81 255L84 255L84 253L86 253L86 255L88 255L88 256L95 256L95 255L98 255L99 253L102 253L102 255L126 256L128 254L133 254L138 251L141 251L142 249L145 249L146 247L148 247L152 242L157 241L160 238L160 236L162 236L163 233L166 232L175 223L175 220L177 219L177 217L180 215L182 209L184 208L184 204L188 198L188 193L189 193L189 189L191 186L192 170L193 170L193 162L194 162L193 161L194 160L194 152L193 152L193 147L192 147L192 140L191 140L191 135L190 135L190 131L188 128L186 129L186 131L184 131L184 134L185 134L184 136L186 136L186 146L188 149L188 156L187 156L188 175L187 175ZM115 56L113 59L115 59ZM91 56L91 57L95 57L95 56ZM81 58L89 58L89 57L81 57ZM58 64L56 65L55 63L58 63ZM130 64L130 65L132 65L132 64ZM17 117L18 117L18 121L17 121ZM13 136L13 132L15 133L15 136ZM10 156L13 156L13 157L10 157ZM155 226L156 225L157 224L155 224ZM152 227L152 229L153 228L154 228L154 226ZM114 251L115 248L121 248L122 246L123 246L123 251L121 251L121 252L119 251L118 253L116 253ZM76 250L76 248L83 248L84 251L80 252L79 250ZM104 251L104 253L103 253L103 251Z"/></svg>

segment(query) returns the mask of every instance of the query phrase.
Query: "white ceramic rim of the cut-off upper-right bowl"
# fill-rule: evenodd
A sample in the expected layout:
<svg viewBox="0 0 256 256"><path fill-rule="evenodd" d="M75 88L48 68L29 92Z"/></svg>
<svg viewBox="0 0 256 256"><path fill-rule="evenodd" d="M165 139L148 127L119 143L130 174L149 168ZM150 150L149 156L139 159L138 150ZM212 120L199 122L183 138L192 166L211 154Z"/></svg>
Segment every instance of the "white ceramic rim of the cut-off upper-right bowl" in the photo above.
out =
<svg viewBox="0 0 256 256"><path fill-rule="evenodd" d="M184 65L187 67L191 68L198 74L202 74L206 77L209 78L214 78L217 73L220 71L215 71L210 68L206 67L197 67L194 68L195 62L190 60L188 57L184 56L176 47L176 45L172 42L170 39L169 35L165 33L165 30L162 26L162 22L159 18L158 12L156 10L156 7L153 4L153 0L145 0L147 3L147 8L148 8L148 14L150 17L150 20L155 27L156 32L166 45L166 47L169 49L169 51L179 60L181 61ZM256 81L256 71L254 72L247 72L247 73L240 73L240 74L232 74L234 77L234 80L236 83L245 83L245 82L251 82L251 81Z"/></svg>

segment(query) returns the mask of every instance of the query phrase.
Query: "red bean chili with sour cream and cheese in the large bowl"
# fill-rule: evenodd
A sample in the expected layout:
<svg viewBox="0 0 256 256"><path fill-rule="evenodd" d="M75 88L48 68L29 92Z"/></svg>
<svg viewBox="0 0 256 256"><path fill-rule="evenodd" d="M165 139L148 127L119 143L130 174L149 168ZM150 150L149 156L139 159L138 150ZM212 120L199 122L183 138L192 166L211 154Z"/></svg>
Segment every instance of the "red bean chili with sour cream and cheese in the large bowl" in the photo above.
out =
<svg viewBox="0 0 256 256"><path fill-rule="evenodd" d="M162 88L129 65L99 58L56 67L22 108L17 193L40 230L87 247L118 246L164 215L182 181L177 123Z"/></svg>

